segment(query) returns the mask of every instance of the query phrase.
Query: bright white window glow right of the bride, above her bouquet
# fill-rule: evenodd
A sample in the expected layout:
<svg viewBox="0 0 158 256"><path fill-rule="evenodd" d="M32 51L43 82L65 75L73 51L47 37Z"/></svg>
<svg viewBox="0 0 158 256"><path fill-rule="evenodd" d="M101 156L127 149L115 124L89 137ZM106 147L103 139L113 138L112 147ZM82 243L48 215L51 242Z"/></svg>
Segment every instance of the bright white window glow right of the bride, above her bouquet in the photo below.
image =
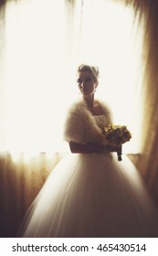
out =
<svg viewBox="0 0 158 256"><path fill-rule="evenodd" d="M137 20L129 7L115 1L85 1L79 62L88 61L100 67L100 87L97 96L106 101L117 124L126 124L132 131L132 141L124 150L139 146L142 102L138 99L137 74L140 70L141 31L137 35ZM90 11L89 11L90 10ZM97 16L94 20L94 16ZM141 29L140 29L141 30ZM90 47L90 44L92 45ZM138 97L138 98L137 98ZM137 114L135 114L137 113Z"/></svg>

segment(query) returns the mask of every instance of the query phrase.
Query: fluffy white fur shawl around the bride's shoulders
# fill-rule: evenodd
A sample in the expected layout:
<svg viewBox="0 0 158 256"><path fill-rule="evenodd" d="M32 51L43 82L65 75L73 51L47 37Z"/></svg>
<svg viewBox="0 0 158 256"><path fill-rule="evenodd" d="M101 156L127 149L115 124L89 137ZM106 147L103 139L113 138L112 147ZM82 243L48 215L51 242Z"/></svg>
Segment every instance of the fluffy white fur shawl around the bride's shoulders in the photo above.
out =
<svg viewBox="0 0 158 256"><path fill-rule="evenodd" d="M111 113L105 104L98 102L103 110L100 116L94 116L85 101L77 101L72 105L65 123L66 141L106 144L102 132L103 127L111 123Z"/></svg>

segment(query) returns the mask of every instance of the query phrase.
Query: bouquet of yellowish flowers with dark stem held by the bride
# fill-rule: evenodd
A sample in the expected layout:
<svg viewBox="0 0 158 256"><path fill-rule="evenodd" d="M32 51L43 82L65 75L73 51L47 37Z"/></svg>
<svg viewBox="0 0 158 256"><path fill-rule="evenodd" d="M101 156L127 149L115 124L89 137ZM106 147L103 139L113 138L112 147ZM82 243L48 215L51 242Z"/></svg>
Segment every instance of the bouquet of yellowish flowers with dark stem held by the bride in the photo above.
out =
<svg viewBox="0 0 158 256"><path fill-rule="evenodd" d="M105 134L107 144L118 148L132 138L132 134L125 125L109 124L104 127L103 133ZM118 160L121 161L121 153L118 153Z"/></svg>

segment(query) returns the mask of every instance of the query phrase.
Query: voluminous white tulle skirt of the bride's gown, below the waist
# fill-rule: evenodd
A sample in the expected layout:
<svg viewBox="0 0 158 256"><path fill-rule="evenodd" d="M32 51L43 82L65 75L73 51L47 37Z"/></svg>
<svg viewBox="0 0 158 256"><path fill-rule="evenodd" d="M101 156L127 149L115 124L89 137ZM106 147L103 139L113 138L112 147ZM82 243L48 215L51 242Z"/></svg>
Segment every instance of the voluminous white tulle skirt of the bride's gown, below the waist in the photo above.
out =
<svg viewBox="0 0 158 256"><path fill-rule="evenodd" d="M127 156L64 157L29 208L23 237L158 237L158 212Z"/></svg>

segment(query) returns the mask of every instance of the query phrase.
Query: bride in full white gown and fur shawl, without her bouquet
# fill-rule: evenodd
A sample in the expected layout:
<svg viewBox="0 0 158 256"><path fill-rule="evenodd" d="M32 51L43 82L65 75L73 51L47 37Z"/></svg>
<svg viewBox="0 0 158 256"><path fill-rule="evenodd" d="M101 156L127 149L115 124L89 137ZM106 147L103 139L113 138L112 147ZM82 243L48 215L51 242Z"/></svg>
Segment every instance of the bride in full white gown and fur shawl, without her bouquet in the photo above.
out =
<svg viewBox="0 0 158 256"><path fill-rule="evenodd" d="M157 237L158 212L128 157L118 162L103 128L111 123L106 105L94 100L99 69L81 65L82 101L68 112L65 140L72 154L48 176L29 208L22 237Z"/></svg>

